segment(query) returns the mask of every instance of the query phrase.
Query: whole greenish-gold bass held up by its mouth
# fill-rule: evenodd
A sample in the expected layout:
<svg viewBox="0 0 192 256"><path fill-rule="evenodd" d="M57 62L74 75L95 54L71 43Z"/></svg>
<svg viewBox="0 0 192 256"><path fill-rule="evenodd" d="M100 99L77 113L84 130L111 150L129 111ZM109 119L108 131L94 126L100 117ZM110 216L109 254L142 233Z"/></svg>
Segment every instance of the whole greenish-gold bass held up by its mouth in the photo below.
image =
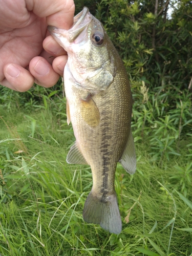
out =
<svg viewBox="0 0 192 256"><path fill-rule="evenodd" d="M122 229L115 191L120 162L134 174L136 153L131 132L132 93L123 62L102 24L87 7L71 29L48 26L68 53L63 73L67 122L76 141L67 163L90 165L93 186L84 203L83 219L118 234Z"/></svg>

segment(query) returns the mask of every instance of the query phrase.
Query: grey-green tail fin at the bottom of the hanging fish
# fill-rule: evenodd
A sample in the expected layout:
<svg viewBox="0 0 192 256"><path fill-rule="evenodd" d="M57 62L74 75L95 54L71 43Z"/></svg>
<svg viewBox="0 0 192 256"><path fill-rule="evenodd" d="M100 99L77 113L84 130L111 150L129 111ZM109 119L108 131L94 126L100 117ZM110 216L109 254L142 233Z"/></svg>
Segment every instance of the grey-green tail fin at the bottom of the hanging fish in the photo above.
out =
<svg viewBox="0 0 192 256"><path fill-rule="evenodd" d="M88 223L100 224L111 233L119 234L122 223L116 194L98 198L91 191L84 204L83 219Z"/></svg>

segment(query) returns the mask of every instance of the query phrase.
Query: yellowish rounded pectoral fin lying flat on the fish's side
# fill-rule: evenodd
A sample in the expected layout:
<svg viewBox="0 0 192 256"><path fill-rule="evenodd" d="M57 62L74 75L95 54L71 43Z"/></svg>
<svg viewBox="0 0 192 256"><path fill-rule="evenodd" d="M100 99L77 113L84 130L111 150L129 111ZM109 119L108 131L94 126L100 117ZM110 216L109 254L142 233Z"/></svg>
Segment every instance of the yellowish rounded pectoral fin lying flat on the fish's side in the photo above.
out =
<svg viewBox="0 0 192 256"><path fill-rule="evenodd" d="M81 99L80 110L83 120L91 127L96 127L99 124L99 110L90 94L86 97L86 99Z"/></svg>

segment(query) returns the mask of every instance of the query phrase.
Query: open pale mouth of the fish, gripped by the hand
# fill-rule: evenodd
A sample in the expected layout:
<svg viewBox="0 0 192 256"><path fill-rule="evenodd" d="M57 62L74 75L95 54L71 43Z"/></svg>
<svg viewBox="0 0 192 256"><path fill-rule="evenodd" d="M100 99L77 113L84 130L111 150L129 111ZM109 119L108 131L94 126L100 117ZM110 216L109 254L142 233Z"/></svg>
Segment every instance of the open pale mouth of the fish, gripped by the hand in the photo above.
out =
<svg viewBox="0 0 192 256"><path fill-rule="evenodd" d="M51 35L62 36L68 39L69 42L73 42L80 33L90 24L92 15L87 7L83 7L83 10L74 17L73 27L69 30L59 29L53 26L48 26L48 30Z"/></svg>

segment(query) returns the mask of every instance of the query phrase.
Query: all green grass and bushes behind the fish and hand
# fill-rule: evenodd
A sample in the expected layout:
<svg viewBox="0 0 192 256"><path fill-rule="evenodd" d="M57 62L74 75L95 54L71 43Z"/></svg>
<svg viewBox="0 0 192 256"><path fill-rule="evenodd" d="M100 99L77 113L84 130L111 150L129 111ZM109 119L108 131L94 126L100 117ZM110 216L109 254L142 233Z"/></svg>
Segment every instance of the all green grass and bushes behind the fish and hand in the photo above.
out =
<svg viewBox="0 0 192 256"><path fill-rule="evenodd" d="M61 80L0 87L0 254L191 256L192 1L75 2L101 20L132 86L137 172L117 166L122 232L82 219L92 175L65 160L75 139Z"/></svg>

